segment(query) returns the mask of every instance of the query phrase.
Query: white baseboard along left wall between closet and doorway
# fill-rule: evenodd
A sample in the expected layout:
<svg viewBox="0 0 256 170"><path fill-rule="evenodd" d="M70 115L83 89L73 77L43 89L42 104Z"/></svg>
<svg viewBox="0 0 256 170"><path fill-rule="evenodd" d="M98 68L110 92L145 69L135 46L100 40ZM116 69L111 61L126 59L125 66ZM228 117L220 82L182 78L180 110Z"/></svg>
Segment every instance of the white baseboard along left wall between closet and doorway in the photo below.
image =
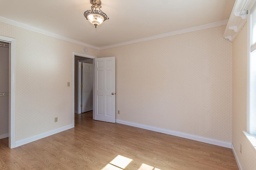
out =
<svg viewBox="0 0 256 170"><path fill-rule="evenodd" d="M34 142L34 141L36 141L38 139L42 139L42 138L45 138L47 136L51 136L53 134L62 132L64 130L68 130L68 129L73 128L73 127L74 127L74 125L68 125L66 127L61 127L61 128L55 129L55 130L50 130L48 132L45 132L45 133L42 133L42 134L38 134L38 135L32 136L30 138L18 140L18 141L15 142L15 148L18 147L18 146L30 143L30 142Z"/></svg>

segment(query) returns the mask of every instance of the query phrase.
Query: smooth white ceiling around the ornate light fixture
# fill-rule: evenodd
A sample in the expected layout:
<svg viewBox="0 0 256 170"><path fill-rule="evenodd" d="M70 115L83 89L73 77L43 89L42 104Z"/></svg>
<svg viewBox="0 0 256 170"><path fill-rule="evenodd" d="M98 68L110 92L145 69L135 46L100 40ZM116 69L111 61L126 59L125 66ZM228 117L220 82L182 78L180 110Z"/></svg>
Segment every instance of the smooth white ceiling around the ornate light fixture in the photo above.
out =
<svg viewBox="0 0 256 170"><path fill-rule="evenodd" d="M235 0L102 0L110 18L84 18L90 0L0 0L0 16L103 47L227 20Z"/></svg>

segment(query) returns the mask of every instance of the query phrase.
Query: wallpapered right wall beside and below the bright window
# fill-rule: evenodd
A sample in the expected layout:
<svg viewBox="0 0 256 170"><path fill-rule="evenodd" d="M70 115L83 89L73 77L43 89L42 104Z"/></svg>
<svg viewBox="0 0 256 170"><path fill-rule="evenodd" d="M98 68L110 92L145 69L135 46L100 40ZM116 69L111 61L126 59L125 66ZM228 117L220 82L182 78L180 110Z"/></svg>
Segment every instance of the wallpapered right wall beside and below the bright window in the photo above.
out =
<svg viewBox="0 0 256 170"><path fill-rule="evenodd" d="M244 170L253 170L256 164L256 150L247 140L246 131L246 71L247 71L247 26L246 24L232 44L232 95L233 123L232 143ZM242 144L242 153L240 153ZM256 166L255 166L256 168Z"/></svg>

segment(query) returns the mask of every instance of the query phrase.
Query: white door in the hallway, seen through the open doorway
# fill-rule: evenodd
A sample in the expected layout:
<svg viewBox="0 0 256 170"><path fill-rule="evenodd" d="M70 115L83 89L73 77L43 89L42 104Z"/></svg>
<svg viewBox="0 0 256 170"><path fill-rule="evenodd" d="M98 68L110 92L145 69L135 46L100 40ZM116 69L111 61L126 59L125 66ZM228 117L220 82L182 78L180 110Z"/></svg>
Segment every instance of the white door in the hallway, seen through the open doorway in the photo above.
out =
<svg viewBox="0 0 256 170"><path fill-rule="evenodd" d="M82 63L82 113L92 111L93 64Z"/></svg>

